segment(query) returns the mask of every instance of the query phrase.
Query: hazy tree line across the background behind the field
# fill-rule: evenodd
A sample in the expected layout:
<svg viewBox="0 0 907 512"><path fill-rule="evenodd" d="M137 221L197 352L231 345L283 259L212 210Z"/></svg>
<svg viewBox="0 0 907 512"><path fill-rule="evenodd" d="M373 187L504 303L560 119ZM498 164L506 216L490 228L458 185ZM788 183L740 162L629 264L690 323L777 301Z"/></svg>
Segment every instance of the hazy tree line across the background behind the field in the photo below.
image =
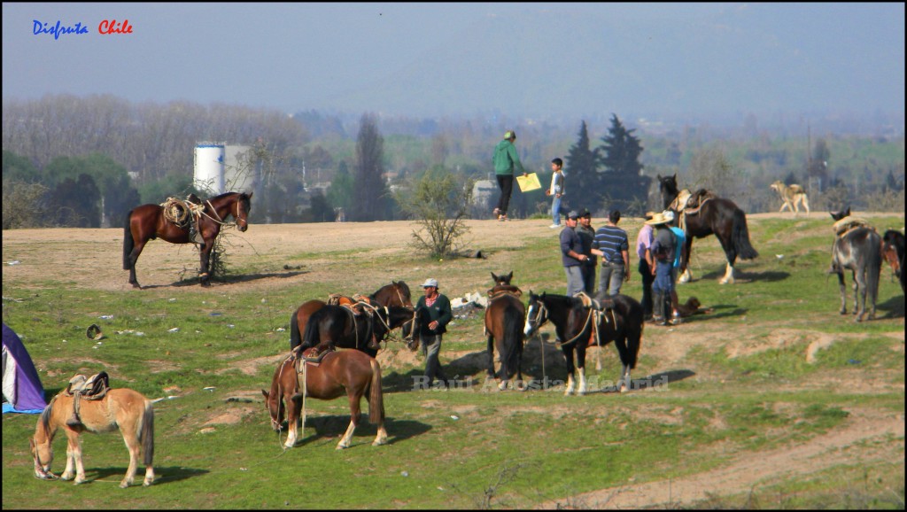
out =
<svg viewBox="0 0 907 512"><path fill-rule="evenodd" d="M814 208L862 202L902 210L902 137L900 143L819 137L807 151L765 133L742 141L697 127L640 134L617 114L600 133L586 121L574 134L546 123L495 121L366 113L350 123L315 112L133 104L110 95L4 100L4 228L121 225L133 206L194 192L193 149L201 141L252 146L258 222L333 221L340 209L349 221L408 218L399 193L414 190L426 172L453 172L461 182L488 179L502 126L521 133L521 159L542 183L550 179L551 158L561 156L567 203L601 215L657 208L653 178L671 173L681 186L713 189L746 212L775 210L767 186L776 179L807 186ZM512 200L519 216L543 216L549 204L541 191L516 192Z"/></svg>

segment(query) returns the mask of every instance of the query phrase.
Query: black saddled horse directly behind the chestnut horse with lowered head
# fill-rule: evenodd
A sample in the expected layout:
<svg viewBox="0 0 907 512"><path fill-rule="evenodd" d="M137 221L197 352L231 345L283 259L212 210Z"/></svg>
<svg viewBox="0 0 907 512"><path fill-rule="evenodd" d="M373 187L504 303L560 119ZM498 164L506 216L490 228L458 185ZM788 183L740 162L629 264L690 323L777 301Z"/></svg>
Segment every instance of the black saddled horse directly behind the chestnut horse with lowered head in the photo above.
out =
<svg viewBox="0 0 907 512"><path fill-rule="evenodd" d="M301 354L317 347L321 354L339 347L362 350L374 358L380 348L378 343L385 335L414 318L413 308L359 304L366 308L365 312L355 314L346 306L326 304L312 313L302 334L302 343L294 351Z"/></svg>

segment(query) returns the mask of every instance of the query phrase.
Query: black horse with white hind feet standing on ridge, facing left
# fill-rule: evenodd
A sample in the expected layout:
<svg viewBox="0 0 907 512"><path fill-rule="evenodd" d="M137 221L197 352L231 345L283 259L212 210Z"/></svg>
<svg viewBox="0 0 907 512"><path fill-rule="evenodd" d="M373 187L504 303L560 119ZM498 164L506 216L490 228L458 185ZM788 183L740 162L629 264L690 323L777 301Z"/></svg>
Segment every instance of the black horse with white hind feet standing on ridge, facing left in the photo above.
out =
<svg viewBox="0 0 907 512"><path fill-rule="evenodd" d="M727 259L725 275L719 282L734 282L736 259L753 260L759 256L749 242L749 228L746 227L746 214L743 210L737 208L733 201L715 197L705 190L694 193L678 190L677 174L665 177L659 174L658 182L664 209L675 213L674 225L687 234L687 258L681 262L678 281L687 282L692 279L688 265L693 239L714 234Z"/></svg>

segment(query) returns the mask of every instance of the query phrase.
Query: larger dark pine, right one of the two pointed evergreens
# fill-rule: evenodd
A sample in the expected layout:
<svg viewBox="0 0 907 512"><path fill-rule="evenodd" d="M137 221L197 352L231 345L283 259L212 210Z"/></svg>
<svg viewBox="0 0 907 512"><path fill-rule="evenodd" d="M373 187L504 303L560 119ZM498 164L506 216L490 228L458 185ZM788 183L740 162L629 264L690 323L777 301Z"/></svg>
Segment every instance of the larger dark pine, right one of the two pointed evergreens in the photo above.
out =
<svg viewBox="0 0 907 512"><path fill-rule="evenodd" d="M603 167L602 196L608 210L619 210L624 215L642 215L649 196L651 177L642 175L642 144L633 135L636 130L627 130L617 114L611 114L608 135L601 138L600 164Z"/></svg>

